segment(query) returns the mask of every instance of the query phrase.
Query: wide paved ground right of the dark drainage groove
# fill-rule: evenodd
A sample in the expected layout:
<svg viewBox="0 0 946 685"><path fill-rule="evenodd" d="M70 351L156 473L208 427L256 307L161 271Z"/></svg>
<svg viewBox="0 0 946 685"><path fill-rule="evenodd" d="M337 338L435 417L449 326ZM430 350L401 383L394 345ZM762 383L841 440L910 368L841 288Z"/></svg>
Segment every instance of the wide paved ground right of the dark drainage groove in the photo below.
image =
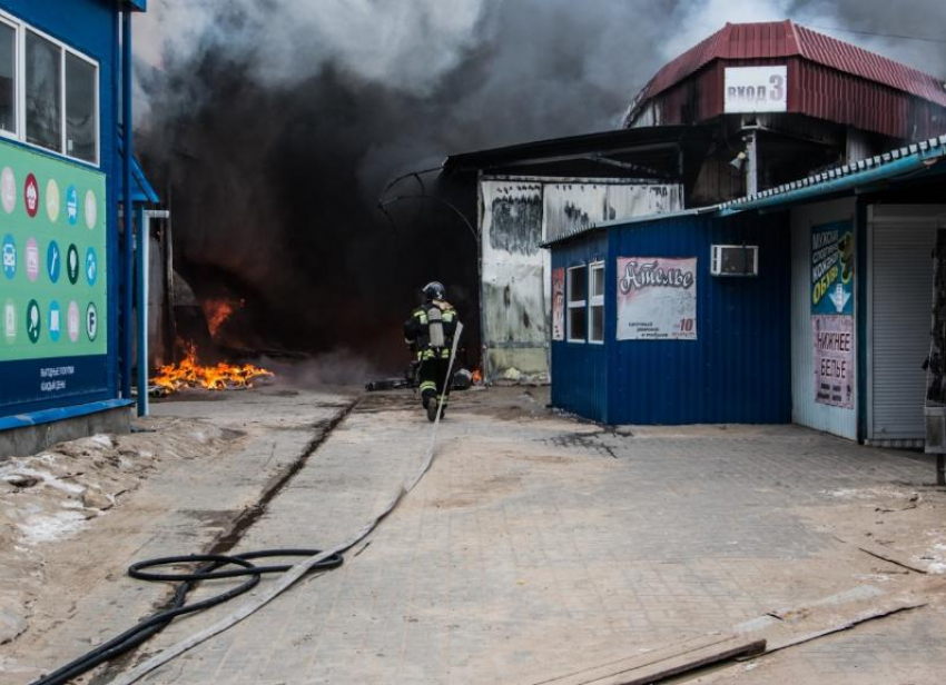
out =
<svg viewBox="0 0 946 685"><path fill-rule="evenodd" d="M858 549L877 530L917 554L942 544L944 496L920 456L788 426L609 431L529 393L457 395L431 473L366 546L144 682L528 685L865 583L905 587L917 574ZM428 431L410 395L365 398L237 548L346 537L416 468ZM824 649L821 682L861 683L883 643L891 669L913 667L905 683L938 682L946 654L917 658L910 642L943 633L942 605L881 621L704 677L815 682L786 669Z"/></svg>

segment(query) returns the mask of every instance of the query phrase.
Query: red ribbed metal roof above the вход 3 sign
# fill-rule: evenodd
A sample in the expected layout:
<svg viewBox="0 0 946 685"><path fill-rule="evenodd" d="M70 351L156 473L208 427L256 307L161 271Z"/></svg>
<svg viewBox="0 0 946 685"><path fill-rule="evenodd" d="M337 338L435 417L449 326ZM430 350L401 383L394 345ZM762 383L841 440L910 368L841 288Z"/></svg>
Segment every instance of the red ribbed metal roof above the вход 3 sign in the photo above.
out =
<svg viewBox="0 0 946 685"><path fill-rule="evenodd" d="M717 59L752 60L795 56L946 107L946 87L942 79L818 33L791 20L727 23L658 71L638 96L635 105L671 88Z"/></svg>

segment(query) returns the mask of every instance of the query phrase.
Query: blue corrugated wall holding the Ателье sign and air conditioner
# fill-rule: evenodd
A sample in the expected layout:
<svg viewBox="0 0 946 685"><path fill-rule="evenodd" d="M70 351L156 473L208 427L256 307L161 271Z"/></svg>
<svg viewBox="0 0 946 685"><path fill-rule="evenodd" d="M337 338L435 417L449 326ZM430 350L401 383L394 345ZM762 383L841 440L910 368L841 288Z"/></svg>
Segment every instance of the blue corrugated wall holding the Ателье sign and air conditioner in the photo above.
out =
<svg viewBox="0 0 946 685"><path fill-rule="evenodd" d="M710 276L710 246L758 245L759 276ZM786 215L683 217L612 229L605 290L609 423L788 423ZM696 341L615 337L618 257L697 257Z"/></svg>

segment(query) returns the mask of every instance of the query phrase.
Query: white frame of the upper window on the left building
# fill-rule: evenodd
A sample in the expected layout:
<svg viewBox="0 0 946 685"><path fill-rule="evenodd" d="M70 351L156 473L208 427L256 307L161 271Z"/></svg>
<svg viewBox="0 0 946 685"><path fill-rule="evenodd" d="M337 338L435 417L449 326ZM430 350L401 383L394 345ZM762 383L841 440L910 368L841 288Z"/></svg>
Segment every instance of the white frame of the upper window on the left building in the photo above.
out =
<svg viewBox="0 0 946 685"><path fill-rule="evenodd" d="M86 165L95 168L100 168L101 166L101 64L98 60L90 58L89 56L79 52L71 46L62 42L61 40L50 36L49 33L37 29L32 24L29 24L21 19L0 10L0 22L11 27L14 33L16 40L16 64L13 71L13 78L16 80L14 90L16 90L16 132L3 131L0 130L0 138L6 138L8 140L16 140L29 148L35 150L40 150L46 152L47 155L55 155L57 157L63 157L69 159L70 161L75 161L80 165ZM59 139L59 149L50 150L49 148L45 148L41 145L36 145L33 142L27 141L27 31L32 32L33 34L42 38L43 40L48 40L59 48L59 73L60 73L60 83L59 83L59 98L60 98L60 139ZM66 56L71 54L73 57L79 58L83 62L87 62L95 67L95 116L96 116L96 155L95 160L81 159L79 157L75 157L69 155L66 148L67 143L67 123L66 123Z"/></svg>

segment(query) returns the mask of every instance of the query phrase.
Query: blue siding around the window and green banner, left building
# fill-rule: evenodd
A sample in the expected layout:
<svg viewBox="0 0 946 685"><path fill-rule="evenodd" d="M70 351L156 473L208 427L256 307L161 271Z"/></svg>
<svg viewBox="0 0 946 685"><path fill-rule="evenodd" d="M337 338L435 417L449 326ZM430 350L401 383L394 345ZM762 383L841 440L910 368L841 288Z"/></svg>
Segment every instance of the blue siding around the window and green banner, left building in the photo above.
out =
<svg viewBox="0 0 946 685"><path fill-rule="evenodd" d="M121 163L116 145L118 120L118 7L109 0L57 0L38 2L37 0L0 0L0 10L24 23L60 40L70 48L82 52L99 64L99 166L108 178L106 181L106 209L108 217L108 379L109 388L105 393L90 393L75 398L60 398L35 403L21 410L38 410L76 403L107 400L118 396L118 291L119 291L119 250L118 250L118 189L116 177ZM19 145L16 141L9 141ZM47 152L30 148L32 151ZM51 157L62 157L48 153ZM81 163L81 162L71 162Z"/></svg>

